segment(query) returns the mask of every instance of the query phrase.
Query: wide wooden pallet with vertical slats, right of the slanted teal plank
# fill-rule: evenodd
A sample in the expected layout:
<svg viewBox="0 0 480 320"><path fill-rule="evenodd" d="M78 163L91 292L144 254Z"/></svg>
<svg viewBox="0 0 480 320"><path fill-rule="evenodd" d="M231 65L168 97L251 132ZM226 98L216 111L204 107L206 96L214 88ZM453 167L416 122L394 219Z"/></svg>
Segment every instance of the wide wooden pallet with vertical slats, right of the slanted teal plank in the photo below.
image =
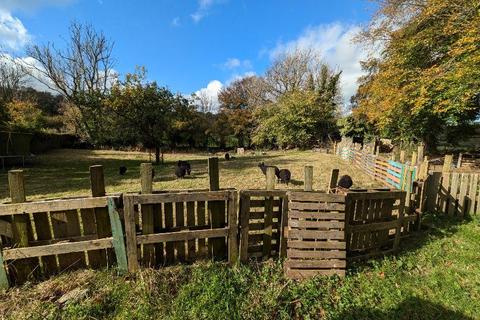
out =
<svg viewBox="0 0 480 320"><path fill-rule="evenodd" d="M208 218L210 203L223 203L223 212L227 226L212 225ZM223 239L227 243L228 261L237 260L237 193L232 190L164 193L164 194L127 194L123 198L125 213L125 234L128 267L131 272L139 265L145 265L147 252L142 247L150 246L148 251L161 265L184 261L195 261L207 257L208 243L212 239ZM153 221L158 221L154 232L137 230L135 223L135 206L140 212L154 206ZM160 246L160 244L162 244ZM221 257L208 256L212 259ZM158 264L157 264L158 266Z"/></svg>

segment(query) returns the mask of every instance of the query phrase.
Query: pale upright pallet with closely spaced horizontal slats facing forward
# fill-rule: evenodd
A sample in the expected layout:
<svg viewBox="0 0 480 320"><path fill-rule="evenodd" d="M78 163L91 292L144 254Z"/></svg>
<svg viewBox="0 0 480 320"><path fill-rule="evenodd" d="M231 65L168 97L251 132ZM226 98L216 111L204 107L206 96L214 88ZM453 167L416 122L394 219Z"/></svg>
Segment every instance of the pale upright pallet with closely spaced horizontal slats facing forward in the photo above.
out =
<svg viewBox="0 0 480 320"><path fill-rule="evenodd" d="M345 275L345 196L288 192L287 260L292 279Z"/></svg>

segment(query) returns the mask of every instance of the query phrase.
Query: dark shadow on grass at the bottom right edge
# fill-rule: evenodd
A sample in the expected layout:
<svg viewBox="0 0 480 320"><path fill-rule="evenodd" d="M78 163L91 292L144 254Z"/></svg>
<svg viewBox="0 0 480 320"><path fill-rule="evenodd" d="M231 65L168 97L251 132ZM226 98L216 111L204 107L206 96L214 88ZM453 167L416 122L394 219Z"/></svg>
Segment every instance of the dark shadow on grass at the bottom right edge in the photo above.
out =
<svg viewBox="0 0 480 320"><path fill-rule="evenodd" d="M460 312L446 309L442 305L417 297L410 297L392 310L380 311L375 307L354 308L342 313L335 319L471 320L473 318L465 316Z"/></svg>

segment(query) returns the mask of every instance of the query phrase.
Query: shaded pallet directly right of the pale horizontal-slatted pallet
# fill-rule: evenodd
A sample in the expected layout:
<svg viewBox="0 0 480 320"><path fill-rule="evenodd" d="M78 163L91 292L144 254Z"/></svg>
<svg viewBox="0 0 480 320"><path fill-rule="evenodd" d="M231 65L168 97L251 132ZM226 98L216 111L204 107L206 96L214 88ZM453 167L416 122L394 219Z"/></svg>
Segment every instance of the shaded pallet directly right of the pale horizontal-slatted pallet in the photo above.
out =
<svg viewBox="0 0 480 320"><path fill-rule="evenodd" d="M350 192L346 196L349 259L369 258L398 249L405 221L404 191ZM413 216L415 217L415 216Z"/></svg>

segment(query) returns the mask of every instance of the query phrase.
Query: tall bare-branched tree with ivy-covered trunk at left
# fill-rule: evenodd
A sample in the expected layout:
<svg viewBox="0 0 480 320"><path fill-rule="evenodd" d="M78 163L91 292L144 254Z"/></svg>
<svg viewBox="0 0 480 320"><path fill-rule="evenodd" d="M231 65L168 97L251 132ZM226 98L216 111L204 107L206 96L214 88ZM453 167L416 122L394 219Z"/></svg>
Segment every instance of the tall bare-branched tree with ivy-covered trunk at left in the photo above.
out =
<svg viewBox="0 0 480 320"><path fill-rule="evenodd" d="M72 23L64 49L53 43L32 45L22 62L29 75L66 98L78 108L80 130L96 143L103 136L102 99L116 78L113 73L113 43L91 25Z"/></svg>

